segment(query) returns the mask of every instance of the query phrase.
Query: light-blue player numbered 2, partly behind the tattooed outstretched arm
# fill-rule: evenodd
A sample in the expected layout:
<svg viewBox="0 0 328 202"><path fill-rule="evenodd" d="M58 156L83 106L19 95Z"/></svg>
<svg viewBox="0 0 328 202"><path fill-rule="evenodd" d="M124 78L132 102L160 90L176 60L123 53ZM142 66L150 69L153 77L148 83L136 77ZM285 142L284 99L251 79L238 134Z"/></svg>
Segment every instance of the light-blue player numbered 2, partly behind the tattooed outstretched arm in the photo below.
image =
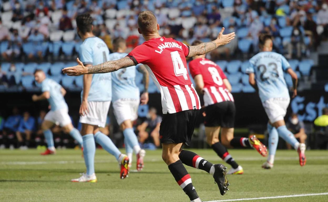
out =
<svg viewBox="0 0 328 202"><path fill-rule="evenodd" d="M109 55L109 60L118 60L124 58L127 53L126 43L122 37L113 40L114 53ZM136 70L143 74L144 92L140 96L139 88L135 84ZM130 66L112 72L113 82L113 108L117 123L120 125L124 135L126 153L129 157L131 167L132 152L136 154L137 171L142 170L144 163L145 150L139 146L138 138L133 131L132 121L138 118L138 107L148 102L148 83L149 76L146 67L143 64ZM139 99L140 98L140 99Z"/></svg>

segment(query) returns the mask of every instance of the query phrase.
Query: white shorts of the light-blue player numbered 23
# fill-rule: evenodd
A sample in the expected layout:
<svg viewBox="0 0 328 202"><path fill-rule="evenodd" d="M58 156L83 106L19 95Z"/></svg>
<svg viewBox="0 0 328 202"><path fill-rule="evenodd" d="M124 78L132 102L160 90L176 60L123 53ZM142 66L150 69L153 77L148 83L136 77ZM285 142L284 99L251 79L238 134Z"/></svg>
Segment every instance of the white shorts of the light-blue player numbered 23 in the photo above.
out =
<svg viewBox="0 0 328 202"><path fill-rule="evenodd" d="M271 123L284 119L289 101L290 98L270 98L262 103Z"/></svg>

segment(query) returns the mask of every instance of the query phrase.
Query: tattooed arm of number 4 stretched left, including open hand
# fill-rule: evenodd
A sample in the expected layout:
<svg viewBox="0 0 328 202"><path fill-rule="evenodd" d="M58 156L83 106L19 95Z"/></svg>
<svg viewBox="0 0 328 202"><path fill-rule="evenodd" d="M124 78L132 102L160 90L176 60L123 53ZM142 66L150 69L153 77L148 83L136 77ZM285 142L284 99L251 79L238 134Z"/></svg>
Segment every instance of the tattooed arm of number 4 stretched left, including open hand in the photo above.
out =
<svg viewBox="0 0 328 202"><path fill-rule="evenodd" d="M86 67L83 63L76 58L78 65L73 67L66 67L62 71L68 76L79 76L82 74L101 74L117 71L122 68L135 65L129 57L124 57L118 60L107 61L101 64Z"/></svg>

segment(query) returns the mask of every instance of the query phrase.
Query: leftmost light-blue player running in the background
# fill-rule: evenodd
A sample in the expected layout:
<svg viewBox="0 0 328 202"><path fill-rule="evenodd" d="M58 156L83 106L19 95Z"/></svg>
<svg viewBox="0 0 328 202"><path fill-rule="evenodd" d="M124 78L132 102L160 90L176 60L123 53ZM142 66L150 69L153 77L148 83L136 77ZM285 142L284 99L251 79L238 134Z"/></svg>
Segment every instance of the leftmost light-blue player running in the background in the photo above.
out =
<svg viewBox="0 0 328 202"><path fill-rule="evenodd" d="M44 153L41 153L41 155L56 153L51 132L51 128L54 124L59 124L59 126L63 128L63 131L69 133L72 138L79 143L80 147L82 147L83 140L81 134L73 127L72 120L68 115L68 107L64 99L66 90L59 83L46 78L46 74L40 69L37 69L34 72L34 77L37 83L41 83L42 94L39 96L33 95L32 100L39 101L47 99L51 108L41 125L48 145L47 150Z"/></svg>

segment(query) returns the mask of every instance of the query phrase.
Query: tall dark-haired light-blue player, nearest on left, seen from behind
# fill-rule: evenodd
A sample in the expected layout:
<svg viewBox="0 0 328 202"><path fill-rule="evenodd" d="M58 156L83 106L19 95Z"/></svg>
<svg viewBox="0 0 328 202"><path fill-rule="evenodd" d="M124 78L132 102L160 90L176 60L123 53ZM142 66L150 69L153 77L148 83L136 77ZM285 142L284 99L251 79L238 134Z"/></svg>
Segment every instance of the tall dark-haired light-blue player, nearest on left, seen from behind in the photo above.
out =
<svg viewBox="0 0 328 202"><path fill-rule="evenodd" d="M109 50L105 42L92 33L92 17L90 14L81 14L76 17L77 34L82 39L79 58L86 66L107 62ZM99 131L105 127L109 106L112 100L111 73L86 74L83 76L83 90L81 92L80 122L82 123L81 135L83 138L83 154L87 172L73 182L96 182L94 173L95 142L103 149L115 156L121 164L120 177L128 174L129 158L122 154L112 140Z"/></svg>

